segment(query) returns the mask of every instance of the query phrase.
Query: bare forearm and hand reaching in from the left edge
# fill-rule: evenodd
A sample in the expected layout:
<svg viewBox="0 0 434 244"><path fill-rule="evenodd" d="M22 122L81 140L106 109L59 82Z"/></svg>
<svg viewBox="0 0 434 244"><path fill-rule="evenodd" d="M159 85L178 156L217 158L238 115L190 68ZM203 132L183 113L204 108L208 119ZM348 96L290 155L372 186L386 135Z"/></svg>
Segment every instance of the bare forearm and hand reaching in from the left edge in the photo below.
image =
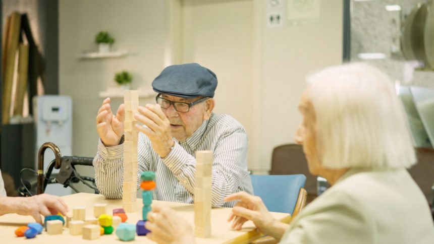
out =
<svg viewBox="0 0 434 244"><path fill-rule="evenodd" d="M41 214L44 216L58 213L66 215L68 211L68 205L58 196L41 194L28 198L7 197L0 171L0 216L9 213L31 215L41 223Z"/></svg>

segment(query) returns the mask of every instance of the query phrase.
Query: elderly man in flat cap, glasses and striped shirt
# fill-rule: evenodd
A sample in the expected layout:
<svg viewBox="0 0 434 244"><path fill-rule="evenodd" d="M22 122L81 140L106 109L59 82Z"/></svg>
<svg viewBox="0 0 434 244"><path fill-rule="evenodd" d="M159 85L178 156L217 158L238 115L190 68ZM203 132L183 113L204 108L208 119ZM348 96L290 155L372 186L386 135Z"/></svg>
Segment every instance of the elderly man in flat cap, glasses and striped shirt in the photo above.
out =
<svg viewBox="0 0 434 244"><path fill-rule="evenodd" d="M155 171L154 199L193 203L197 150L214 152L213 207L234 206L224 202L232 193L252 193L246 131L233 117L212 113L216 86L215 74L198 64L169 66L152 82L156 104L139 106L135 118L144 125L136 126L138 171ZM123 120L124 105L114 115L106 98L96 116L100 141L93 161L96 186L106 198L122 198Z"/></svg>

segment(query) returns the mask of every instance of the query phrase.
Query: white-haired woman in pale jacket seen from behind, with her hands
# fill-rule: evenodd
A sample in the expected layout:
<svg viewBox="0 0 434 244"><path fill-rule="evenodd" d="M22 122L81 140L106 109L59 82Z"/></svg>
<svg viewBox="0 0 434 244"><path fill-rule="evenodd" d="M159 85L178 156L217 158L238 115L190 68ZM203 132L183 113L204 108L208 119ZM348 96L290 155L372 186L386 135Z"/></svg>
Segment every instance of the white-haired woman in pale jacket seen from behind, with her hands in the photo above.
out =
<svg viewBox="0 0 434 244"><path fill-rule="evenodd" d="M295 140L303 144L310 173L332 187L290 225L274 219L260 198L230 195L226 201L240 201L232 227L252 220L282 243L434 243L428 203L406 170L416 158L392 81L366 64L331 67L307 81ZM147 227L162 241L157 228L180 220L171 210L156 212L164 214ZM167 230L192 240L191 231Z"/></svg>

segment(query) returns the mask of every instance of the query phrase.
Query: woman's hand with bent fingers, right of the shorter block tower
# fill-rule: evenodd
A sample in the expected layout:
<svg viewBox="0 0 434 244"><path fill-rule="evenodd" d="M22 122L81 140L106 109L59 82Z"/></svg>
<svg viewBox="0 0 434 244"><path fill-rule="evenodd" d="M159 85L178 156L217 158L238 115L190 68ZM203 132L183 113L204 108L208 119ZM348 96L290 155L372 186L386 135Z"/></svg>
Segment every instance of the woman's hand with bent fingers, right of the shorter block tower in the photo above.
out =
<svg viewBox="0 0 434 244"><path fill-rule="evenodd" d="M260 232L280 239L288 225L276 220L267 210L260 197L245 192L229 195L225 202L239 200L232 209L228 222L233 220L232 228L241 230L247 220L251 220ZM283 231L282 231L283 230Z"/></svg>

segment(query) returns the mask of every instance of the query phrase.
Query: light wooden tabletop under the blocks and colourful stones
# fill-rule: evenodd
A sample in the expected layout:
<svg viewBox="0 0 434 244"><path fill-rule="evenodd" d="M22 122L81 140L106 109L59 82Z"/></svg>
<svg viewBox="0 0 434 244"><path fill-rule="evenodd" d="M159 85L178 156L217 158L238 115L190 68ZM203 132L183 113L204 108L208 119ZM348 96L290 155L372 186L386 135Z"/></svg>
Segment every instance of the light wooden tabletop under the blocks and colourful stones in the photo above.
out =
<svg viewBox="0 0 434 244"><path fill-rule="evenodd" d="M93 217L93 205L95 203L107 203L107 213L111 214L115 208L122 208L122 200L108 200L102 195L95 195L89 193L78 193L62 197L68 204L70 213L72 216L72 208L75 206L86 207L86 217ZM173 203L154 201L155 203L171 207L176 210L177 214L186 219L194 227L194 207L192 204ZM140 211L134 213L127 213L128 223L136 224L138 220L142 219L141 199L137 199L137 209ZM197 243L247 243L252 239L258 237L260 233L254 229L252 222L248 221L241 231L232 230L230 223L226 220L229 217L231 208L215 208L211 210L211 237L210 238L196 238ZM286 213L273 213L272 215L276 219L286 219L290 216ZM69 229L64 227L63 234L60 235L48 235L46 231L37 235L33 239L26 239L25 237L15 236L15 229L21 225L27 225L29 222L34 222L34 219L30 216L21 216L17 214L6 214L0 216L0 242L1 243L13 243L13 242L26 242L26 243L45 243L45 244L68 244L68 243L82 243L82 242L104 242L104 243L122 243L118 236L113 233L111 235L103 235L95 240L84 240L81 235L70 235ZM286 221L288 222L288 221ZM136 235L136 242L151 243L146 236Z"/></svg>

